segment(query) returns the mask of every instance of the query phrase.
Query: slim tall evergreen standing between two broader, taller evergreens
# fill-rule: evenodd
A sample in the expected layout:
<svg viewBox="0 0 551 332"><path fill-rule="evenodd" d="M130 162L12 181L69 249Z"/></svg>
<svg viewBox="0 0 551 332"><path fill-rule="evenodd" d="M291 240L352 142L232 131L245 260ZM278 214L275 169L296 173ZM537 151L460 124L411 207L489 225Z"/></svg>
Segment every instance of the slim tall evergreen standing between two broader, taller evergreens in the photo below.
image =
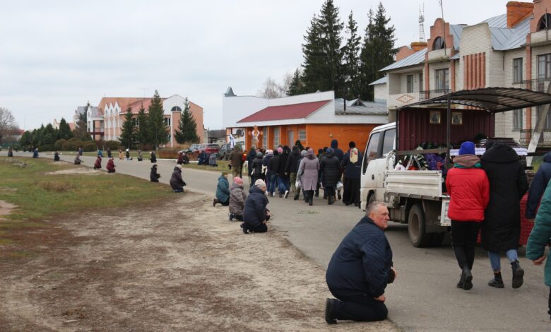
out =
<svg viewBox="0 0 551 332"><path fill-rule="evenodd" d="M352 17L352 11L348 16L346 26L348 40L343 47L343 78L345 81L345 99L352 100L360 97L360 36L357 35L357 23Z"/></svg>

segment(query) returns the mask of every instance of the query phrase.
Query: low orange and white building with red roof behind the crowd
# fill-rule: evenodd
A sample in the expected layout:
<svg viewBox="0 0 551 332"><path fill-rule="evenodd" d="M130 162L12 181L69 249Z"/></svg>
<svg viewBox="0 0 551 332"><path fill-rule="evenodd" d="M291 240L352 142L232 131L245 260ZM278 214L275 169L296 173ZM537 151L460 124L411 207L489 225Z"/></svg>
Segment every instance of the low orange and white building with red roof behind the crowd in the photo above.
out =
<svg viewBox="0 0 551 332"><path fill-rule="evenodd" d="M333 91L266 99L238 97L229 88L223 97L227 135L246 148L253 145L255 133L256 145L265 149L292 146L297 139L315 149L329 146L333 139L343 149L350 141L363 147L372 129L386 124L387 118L384 103L335 99Z"/></svg>

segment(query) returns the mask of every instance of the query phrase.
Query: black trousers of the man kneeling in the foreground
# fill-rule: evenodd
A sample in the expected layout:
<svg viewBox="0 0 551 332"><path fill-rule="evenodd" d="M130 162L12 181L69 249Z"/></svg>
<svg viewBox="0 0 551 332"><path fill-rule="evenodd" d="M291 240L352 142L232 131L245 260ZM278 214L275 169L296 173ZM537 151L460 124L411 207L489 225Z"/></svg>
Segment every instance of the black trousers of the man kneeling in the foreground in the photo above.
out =
<svg viewBox="0 0 551 332"><path fill-rule="evenodd" d="M343 295L331 290L331 293L338 299L333 307L333 317L348 321L382 321L389 314L384 302L377 301L367 294Z"/></svg>

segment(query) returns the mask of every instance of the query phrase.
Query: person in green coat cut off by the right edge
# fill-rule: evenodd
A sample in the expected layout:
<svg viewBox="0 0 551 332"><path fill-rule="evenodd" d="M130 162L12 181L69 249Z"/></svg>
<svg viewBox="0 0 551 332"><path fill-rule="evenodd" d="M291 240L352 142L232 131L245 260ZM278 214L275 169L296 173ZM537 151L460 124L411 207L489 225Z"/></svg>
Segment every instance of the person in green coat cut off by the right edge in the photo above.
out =
<svg viewBox="0 0 551 332"><path fill-rule="evenodd" d="M545 261L545 247L549 245L551 239L551 182L546 186L543 193L543 199L535 217L535 224L528 237L526 244L526 258L533 261L534 265L541 265ZM551 262L547 259L545 262L545 285L549 288L549 298L547 305L549 311L547 314L551 318Z"/></svg>

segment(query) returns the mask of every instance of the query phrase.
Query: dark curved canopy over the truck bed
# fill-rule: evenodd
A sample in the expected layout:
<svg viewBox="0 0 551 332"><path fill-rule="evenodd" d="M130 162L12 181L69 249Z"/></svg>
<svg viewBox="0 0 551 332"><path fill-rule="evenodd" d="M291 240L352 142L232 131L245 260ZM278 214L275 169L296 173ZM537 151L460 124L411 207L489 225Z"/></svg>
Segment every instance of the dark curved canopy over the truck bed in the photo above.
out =
<svg viewBox="0 0 551 332"><path fill-rule="evenodd" d="M414 102L399 108L423 106L447 107L448 102L451 105L477 107L488 112L499 113L551 104L551 94L517 88L480 88L447 93L446 95Z"/></svg>

